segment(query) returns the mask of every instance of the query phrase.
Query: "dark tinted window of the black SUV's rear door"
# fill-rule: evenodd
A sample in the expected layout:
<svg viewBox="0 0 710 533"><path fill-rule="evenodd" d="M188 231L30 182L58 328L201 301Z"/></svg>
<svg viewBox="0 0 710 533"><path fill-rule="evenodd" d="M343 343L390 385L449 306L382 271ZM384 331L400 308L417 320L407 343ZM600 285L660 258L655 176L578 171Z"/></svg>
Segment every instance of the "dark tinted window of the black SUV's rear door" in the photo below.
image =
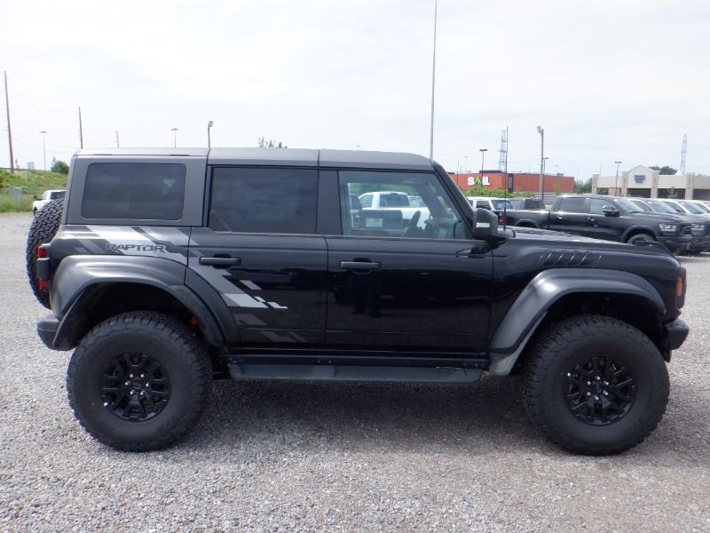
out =
<svg viewBox="0 0 710 533"><path fill-rule="evenodd" d="M216 168L209 227L246 233L314 234L318 171Z"/></svg>

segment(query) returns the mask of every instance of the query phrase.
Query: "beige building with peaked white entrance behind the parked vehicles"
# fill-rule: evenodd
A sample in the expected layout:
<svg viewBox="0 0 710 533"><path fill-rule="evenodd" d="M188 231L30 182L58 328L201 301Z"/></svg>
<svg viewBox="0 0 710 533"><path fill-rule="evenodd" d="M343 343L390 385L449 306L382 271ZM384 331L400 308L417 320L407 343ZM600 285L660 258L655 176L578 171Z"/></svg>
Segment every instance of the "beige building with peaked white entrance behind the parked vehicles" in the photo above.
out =
<svg viewBox="0 0 710 533"><path fill-rule="evenodd" d="M546 187L547 188L547 187ZM606 189L616 196L710 200L710 176L687 173L660 174L643 164L612 176L592 176L592 193Z"/></svg>

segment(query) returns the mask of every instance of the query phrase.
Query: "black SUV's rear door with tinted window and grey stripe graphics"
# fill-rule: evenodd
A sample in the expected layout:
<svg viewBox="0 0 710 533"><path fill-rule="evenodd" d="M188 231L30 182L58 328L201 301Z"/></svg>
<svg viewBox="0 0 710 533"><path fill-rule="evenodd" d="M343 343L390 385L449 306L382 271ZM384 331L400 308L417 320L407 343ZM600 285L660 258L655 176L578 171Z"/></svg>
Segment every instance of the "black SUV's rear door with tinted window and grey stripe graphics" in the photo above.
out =
<svg viewBox="0 0 710 533"><path fill-rule="evenodd" d="M327 248L316 234L318 171L215 167L207 227L188 267L229 307L241 347L324 342Z"/></svg>

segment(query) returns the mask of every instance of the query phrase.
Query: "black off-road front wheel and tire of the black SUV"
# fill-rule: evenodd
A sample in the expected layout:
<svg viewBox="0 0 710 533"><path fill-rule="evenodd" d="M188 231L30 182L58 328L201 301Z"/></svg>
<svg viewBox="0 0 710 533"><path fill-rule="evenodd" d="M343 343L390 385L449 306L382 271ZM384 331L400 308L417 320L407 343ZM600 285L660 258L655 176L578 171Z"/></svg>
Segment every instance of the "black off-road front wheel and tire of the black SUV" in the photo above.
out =
<svg viewBox="0 0 710 533"><path fill-rule="evenodd" d="M602 364L616 371L600 370L597 382L594 373L579 372ZM624 386L628 379L631 385ZM643 442L659 425L669 388L666 363L650 338L626 322L588 314L553 324L534 343L526 358L523 401L533 424L552 442L574 453L612 455ZM611 422L606 411L606 421L600 419L597 394L602 401L618 400L625 411L619 414L615 406ZM624 398L629 401L619 400Z"/></svg>

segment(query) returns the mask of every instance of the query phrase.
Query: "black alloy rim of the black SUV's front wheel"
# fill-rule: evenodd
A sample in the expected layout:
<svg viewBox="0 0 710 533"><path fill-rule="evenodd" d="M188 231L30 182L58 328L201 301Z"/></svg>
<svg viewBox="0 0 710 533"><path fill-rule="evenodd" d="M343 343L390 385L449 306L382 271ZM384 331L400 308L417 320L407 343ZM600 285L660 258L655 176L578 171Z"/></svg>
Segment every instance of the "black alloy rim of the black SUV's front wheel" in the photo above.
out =
<svg viewBox="0 0 710 533"><path fill-rule="evenodd" d="M608 426L634 404L631 372L609 355L593 355L564 378L564 397L575 418L590 426Z"/></svg>

